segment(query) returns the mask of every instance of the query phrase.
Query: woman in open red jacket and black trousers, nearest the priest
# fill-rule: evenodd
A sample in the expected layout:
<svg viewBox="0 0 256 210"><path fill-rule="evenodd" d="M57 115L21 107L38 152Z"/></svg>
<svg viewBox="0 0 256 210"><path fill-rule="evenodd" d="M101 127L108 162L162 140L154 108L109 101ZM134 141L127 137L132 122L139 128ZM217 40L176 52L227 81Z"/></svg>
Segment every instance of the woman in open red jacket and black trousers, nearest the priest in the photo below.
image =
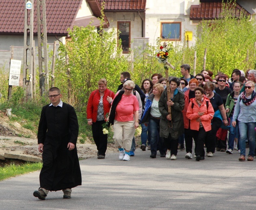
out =
<svg viewBox="0 0 256 210"><path fill-rule="evenodd" d="M87 104L87 121L92 125L93 140L97 146L98 159L105 158L108 144L108 134L103 134L102 124L105 123L105 115L109 112L112 99L115 94L107 88L107 80L100 79L98 90L94 90Z"/></svg>

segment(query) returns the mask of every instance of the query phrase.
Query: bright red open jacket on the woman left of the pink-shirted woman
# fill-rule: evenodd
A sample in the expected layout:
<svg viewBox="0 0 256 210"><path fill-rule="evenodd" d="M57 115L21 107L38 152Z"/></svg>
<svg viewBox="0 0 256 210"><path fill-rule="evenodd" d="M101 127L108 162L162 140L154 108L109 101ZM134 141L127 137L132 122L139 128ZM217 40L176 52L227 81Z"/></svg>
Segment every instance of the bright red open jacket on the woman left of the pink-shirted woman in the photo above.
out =
<svg viewBox="0 0 256 210"><path fill-rule="evenodd" d="M114 99L114 92L106 88L104 91L103 96L103 109L104 109L104 116L106 113L109 112L111 104L107 101L107 96ZM99 100L101 99L101 95L99 93L99 90L94 90L89 97L88 103L87 103L87 120L93 120L93 122L96 122L97 120L97 112L98 112L98 105Z"/></svg>

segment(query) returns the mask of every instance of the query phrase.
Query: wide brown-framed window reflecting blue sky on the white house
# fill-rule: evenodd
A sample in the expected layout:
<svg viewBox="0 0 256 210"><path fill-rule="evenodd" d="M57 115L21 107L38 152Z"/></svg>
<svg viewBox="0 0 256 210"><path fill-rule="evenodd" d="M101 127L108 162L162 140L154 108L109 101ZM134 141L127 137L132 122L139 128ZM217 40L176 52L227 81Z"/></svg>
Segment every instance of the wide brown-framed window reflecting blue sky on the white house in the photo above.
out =
<svg viewBox="0 0 256 210"><path fill-rule="evenodd" d="M170 41L180 41L181 22L161 23L161 38Z"/></svg>

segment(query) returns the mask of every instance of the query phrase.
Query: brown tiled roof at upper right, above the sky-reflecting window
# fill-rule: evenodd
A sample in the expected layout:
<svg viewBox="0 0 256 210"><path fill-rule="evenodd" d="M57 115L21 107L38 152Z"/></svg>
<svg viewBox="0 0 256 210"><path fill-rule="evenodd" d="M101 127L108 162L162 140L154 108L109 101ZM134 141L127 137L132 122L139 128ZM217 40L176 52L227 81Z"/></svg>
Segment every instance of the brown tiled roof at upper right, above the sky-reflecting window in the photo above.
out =
<svg viewBox="0 0 256 210"><path fill-rule="evenodd" d="M227 3L225 3L227 5ZM228 5L231 7L231 4ZM191 20L212 20L219 18L219 14L222 12L221 0L201 0L199 5L191 5L190 16ZM238 3L233 9L233 17L240 17L242 14L250 15L245 9L243 9Z"/></svg>

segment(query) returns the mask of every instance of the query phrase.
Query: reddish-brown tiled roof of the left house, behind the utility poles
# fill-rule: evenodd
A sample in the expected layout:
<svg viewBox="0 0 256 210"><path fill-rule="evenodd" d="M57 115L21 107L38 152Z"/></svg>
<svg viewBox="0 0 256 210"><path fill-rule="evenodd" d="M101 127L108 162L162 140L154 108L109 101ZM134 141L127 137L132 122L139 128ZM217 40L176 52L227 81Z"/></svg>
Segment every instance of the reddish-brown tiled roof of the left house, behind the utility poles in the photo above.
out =
<svg viewBox="0 0 256 210"><path fill-rule="evenodd" d="M97 0L89 0L95 4ZM48 35L67 35L72 28L82 0L46 0L46 24ZM90 5L90 4L89 4ZM98 2L99 5L99 2ZM34 0L34 33L37 33L37 0ZM0 33L24 33L24 0L0 0ZM91 8L100 13L100 5ZM97 16L98 17L98 16ZM79 21L79 20L78 20Z"/></svg>

